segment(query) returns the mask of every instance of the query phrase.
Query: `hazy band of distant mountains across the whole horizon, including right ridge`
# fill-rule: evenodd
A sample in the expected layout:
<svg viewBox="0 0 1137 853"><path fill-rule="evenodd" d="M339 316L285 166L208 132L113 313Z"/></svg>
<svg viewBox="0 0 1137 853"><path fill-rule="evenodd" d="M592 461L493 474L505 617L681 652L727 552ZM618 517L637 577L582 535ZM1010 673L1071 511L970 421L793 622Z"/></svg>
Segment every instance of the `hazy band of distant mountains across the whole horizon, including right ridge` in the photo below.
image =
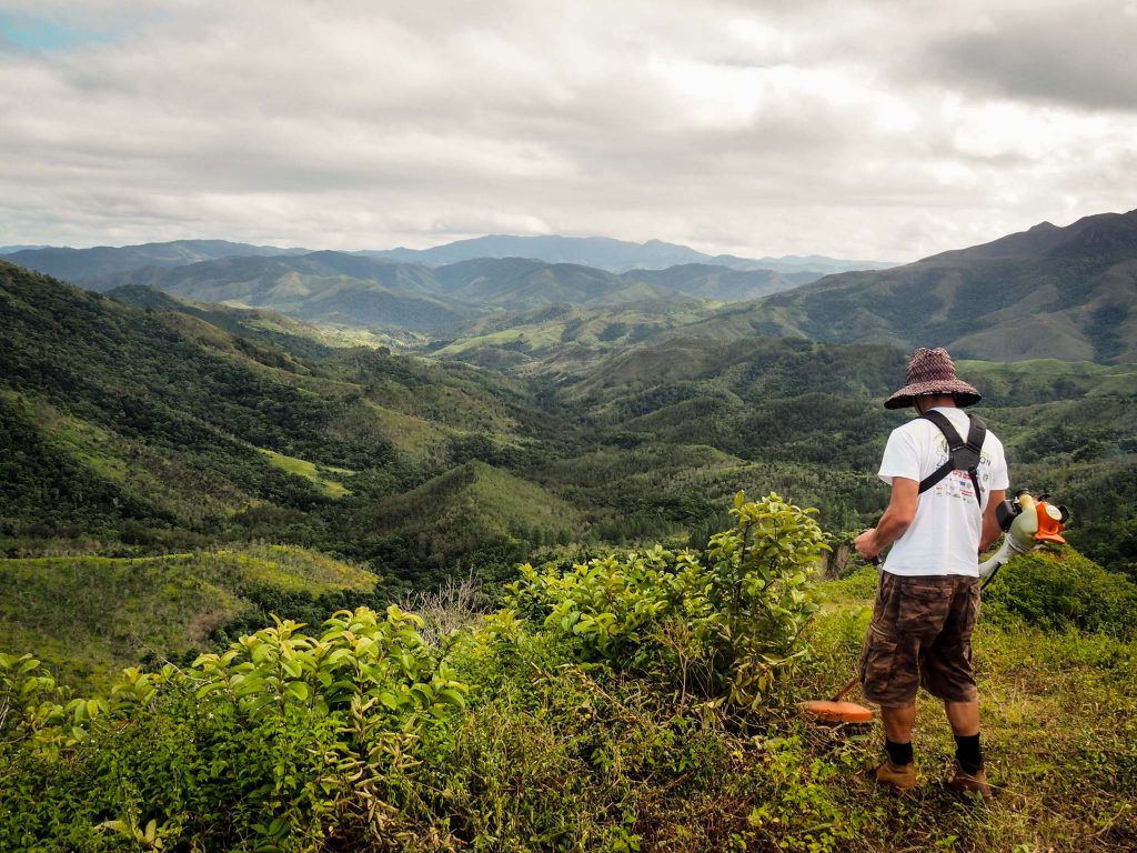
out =
<svg viewBox="0 0 1137 853"><path fill-rule="evenodd" d="M530 250L553 260L465 257ZM507 368L561 372L566 358L581 362L582 347L754 336L946 346L961 357L999 361L1137 361L1137 210L1065 227L1041 223L885 270L742 270L723 257L603 268L690 252L658 241L490 237L422 251L181 241L8 257L99 291L142 285L372 333L406 330L433 337L429 348L443 356ZM595 265L558 259L583 256ZM555 306L565 308L548 313ZM631 314L616 316L625 309Z"/></svg>

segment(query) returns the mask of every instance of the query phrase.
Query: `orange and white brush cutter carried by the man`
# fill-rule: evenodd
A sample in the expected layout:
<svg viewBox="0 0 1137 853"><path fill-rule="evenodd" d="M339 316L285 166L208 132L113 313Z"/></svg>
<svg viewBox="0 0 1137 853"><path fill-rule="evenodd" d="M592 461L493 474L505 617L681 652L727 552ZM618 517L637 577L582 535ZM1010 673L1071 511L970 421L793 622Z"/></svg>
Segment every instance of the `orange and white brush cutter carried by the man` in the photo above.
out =
<svg viewBox="0 0 1137 853"><path fill-rule="evenodd" d="M1049 495L1039 495L1035 499L1023 489L1013 500L1004 500L996 507L996 517L1006 536L1003 537L1002 547L979 564L979 577L982 578L980 590L990 586L999 568L1010 562L1011 557L1027 554L1043 543L1060 545L1065 543L1061 533L1070 520L1070 511L1064 506L1047 503L1048 498ZM872 564L879 568L880 561L873 560ZM805 717L815 722L863 729L872 722L872 711L863 705L844 701L860 681L860 677L854 677L831 699L803 702L798 707Z"/></svg>

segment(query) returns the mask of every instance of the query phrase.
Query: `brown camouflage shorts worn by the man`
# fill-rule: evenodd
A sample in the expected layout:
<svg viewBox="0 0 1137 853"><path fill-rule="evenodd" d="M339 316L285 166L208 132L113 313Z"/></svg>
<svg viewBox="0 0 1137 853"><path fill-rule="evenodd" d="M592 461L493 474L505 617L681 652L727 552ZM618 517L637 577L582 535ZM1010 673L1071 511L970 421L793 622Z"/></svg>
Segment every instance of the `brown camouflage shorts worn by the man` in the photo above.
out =
<svg viewBox="0 0 1137 853"><path fill-rule="evenodd" d="M883 707L904 707L923 686L948 702L974 702L971 632L978 615L978 578L882 572L861 649L864 697Z"/></svg>

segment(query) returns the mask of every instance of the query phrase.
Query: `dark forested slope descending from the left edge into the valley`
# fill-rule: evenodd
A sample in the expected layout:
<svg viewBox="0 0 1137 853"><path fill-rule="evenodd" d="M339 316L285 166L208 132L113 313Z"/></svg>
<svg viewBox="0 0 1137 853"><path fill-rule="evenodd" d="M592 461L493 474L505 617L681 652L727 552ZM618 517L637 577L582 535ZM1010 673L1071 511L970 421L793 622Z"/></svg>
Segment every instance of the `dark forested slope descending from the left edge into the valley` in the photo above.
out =
<svg viewBox="0 0 1137 853"><path fill-rule="evenodd" d="M509 380L301 345L298 326L234 334L184 307L133 308L0 263L0 537L11 547L266 535L335 549L362 507L472 447L540 458L573 433Z"/></svg>

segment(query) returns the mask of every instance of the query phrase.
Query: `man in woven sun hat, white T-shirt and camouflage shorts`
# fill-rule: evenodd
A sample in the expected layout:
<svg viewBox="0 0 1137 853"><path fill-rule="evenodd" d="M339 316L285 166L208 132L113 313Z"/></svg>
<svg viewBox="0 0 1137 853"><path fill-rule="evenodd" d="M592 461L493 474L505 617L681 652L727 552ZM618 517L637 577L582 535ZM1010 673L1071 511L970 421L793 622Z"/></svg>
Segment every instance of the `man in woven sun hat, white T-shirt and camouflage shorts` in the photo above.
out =
<svg viewBox="0 0 1137 853"><path fill-rule="evenodd" d="M865 560L875 560L893 546L861 653L864 697L880 705L885 723L888 756L877 768L877 780L902 790L916 784L912 724L922 685L943 699L955 732L956 767L949 787L987 798L990 787L979 745L971 632L979 614L979 554L999 536L995 507L1010 485L1003 445L988 431L974 478L968 471L952 471L920 492L921 481L949 458L944 432L923 415L943 413L966 438L970 419L961 409L979 399L979 391L956 378L946 350L915 351L907 384L885 407L913 406L920 416L889 437L880 479L891 486L891 499L877 527L861 533L855 546Z"/></svg>

